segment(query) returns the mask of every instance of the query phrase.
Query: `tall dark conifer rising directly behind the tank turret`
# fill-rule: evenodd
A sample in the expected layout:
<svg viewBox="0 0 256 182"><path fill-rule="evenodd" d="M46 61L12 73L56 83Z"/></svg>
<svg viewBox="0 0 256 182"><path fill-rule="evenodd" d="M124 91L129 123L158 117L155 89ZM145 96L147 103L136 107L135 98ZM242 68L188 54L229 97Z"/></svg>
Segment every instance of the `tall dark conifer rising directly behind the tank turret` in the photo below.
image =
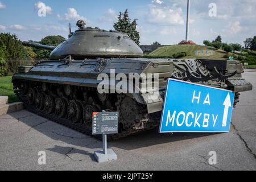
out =
<svg viewBox="0 0 256 182"><path fill-rule="evenodd" d="M126 33L131 40L133 40L136 44L139 46L139 32L137 31L137 20L134 19L133 22L131 22L131 19L128 15L128 10L126 9L124 13L119 12L119 15L117 16L118 22L114 22L114 28L116 31Z"/></svg>

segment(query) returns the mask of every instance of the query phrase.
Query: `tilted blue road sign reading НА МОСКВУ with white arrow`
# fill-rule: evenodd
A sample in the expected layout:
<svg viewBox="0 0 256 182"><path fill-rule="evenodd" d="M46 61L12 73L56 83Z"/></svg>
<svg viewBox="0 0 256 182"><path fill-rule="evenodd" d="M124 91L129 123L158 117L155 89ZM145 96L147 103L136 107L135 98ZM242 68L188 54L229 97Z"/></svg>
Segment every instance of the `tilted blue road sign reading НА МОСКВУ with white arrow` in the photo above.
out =
<svg viewBox="0 0 256 182"><path fill-rule="evenodd" d="M169 79L159 133L229 132L234 93Z"/></svg>

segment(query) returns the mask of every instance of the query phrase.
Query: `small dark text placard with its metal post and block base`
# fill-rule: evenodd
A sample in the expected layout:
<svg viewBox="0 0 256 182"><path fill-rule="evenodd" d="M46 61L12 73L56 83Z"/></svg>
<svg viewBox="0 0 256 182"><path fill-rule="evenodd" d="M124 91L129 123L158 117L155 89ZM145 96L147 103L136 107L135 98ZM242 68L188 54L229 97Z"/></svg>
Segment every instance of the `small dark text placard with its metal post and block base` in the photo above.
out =
<svg viewBox="0 0 256 182"><path fill-rule="evenodd" d="M102 111L102 113L106 114L105 111ZM106 132L101 133L102 134L102 149L103 150L95 151L94 157L96 158L97 162L99 162L99 163L108 162L110 160L117 160L117 154L115 154L115 152L112 149L108 149L106 133L114 134L114 133L118 132L116 130L115 131L108 130L108 127L112 127L112 129L113 129L113 126L117 126L117 128L118 128L118 113L117 114L113 113L114 115L117 115L117 123L115 123L115 121L110 121L108 123L104 123L104 126L101 126L101 121L99 121L99 120L104 120L104 119L102 119L102 115L100 115L100 117L98 117L97 114L100 115L101 113L96 113L95 115L93 114L93 130L94 130L93 133L94 134L100 133L101 131L98 130L99 128L101 128L101 130L102 130L102 128L106 129ZM111 115L112 113L109 113L109 114Z"/></svg>

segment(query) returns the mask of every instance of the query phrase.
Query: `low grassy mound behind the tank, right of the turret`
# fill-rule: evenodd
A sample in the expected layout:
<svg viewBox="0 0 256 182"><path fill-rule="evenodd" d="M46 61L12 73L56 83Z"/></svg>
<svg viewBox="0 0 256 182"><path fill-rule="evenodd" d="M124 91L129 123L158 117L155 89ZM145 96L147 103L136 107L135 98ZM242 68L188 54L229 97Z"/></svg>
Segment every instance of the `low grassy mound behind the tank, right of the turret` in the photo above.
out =
<svg viewBox="0 0 256 182"><path fill-rule="evenodd" d="M215 51L214 55L196 55L196 51L199 50L213 50ZM200 45L172 45L172 46L164 46L156 49L155 51L151 52L148 56L166 56L171 57L174 55L174 53L177 52L187 52L188 56L185 56L183 58L194 58L194 59L222 59L226 60L224 58L225 55L228 53L218 49L216 50L213 47L209 46L200 46ZM238 55L237 55L238 56Z"/></svg>

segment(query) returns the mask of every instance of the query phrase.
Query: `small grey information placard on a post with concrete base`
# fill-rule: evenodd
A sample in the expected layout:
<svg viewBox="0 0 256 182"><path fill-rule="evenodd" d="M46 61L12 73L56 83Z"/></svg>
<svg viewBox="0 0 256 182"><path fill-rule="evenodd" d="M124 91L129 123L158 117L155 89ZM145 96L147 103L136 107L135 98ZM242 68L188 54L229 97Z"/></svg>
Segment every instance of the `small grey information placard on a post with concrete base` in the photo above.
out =
<svg viewBox="0 0 256 182"><path fill-rule="evenodd" d="M95 151L94 156L97 162L117 160L117 155L107 146L107 134L118 133L118 112L93 113L92 134L102 134L102 150Z"/></svg>

